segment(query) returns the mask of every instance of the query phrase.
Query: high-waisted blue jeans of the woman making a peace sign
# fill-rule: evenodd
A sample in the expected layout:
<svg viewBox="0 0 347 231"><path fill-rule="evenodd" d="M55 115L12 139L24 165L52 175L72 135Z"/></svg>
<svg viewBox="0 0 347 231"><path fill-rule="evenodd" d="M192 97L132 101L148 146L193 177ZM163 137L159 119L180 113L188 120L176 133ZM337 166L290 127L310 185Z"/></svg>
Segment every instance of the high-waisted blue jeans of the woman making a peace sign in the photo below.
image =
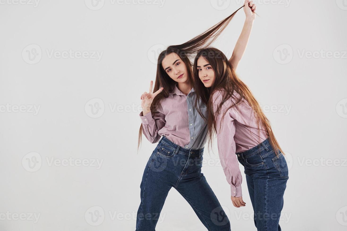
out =
<svg viewBox="0 0 347 231"><path fill-rule="evenodd" d="M143 172L136 231L155 230L171 187L186 199L208 230L230 231L229 219L201 172L203 151L182 148L162 137Z"/></svg>

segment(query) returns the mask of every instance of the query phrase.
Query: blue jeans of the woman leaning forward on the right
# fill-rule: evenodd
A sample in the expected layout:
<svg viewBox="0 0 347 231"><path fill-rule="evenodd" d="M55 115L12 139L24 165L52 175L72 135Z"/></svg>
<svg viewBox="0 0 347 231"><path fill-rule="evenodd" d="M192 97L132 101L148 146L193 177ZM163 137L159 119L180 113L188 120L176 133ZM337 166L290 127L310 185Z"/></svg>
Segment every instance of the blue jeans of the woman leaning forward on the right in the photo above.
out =
<svg viewBox="0 0 347 231"><path fill-rule="evenodd" d="M286 159L281 152L276 156L268 139L248 151L236 154L245 167L257 230L280 231L278 223L288 180Z"/></svg>

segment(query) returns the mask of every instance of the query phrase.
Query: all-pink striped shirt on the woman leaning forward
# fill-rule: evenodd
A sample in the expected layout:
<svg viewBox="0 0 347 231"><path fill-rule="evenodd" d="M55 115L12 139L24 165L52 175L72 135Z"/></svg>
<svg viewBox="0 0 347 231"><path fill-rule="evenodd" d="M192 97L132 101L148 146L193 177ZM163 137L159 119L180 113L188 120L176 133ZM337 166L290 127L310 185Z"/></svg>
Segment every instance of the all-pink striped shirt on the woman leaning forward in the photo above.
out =
<svg viewBox="0 0 347 231"><path fill-rule="evenodd" d="M225 98L223 93L225 92L219 90L212 96L214 112L217 111L222 98ZM239 97L236 92L234 96ZM217 143L221 165L230 184L231 196L239 197L242 196L242 175L236 153L254 148L268 136L266 131L258 129L254 110L246 100L242 100L236 106L228 109L232 102L235 103L236 100L231 98L226 100L216 118ZM226 112L226 110L228 111ZM225 112L226 114L222 120L222 115ZM222 123L221 126L220 123Z"/></svg>

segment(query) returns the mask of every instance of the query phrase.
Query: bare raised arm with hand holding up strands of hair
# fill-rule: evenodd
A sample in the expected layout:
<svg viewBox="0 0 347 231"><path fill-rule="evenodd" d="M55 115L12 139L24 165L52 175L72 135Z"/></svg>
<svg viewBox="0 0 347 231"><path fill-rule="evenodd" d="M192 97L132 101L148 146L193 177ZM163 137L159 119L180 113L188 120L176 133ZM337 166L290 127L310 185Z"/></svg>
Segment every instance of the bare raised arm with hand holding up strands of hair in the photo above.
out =
<svg viewBox="0 0 347 231"><path fill-rule="evenodd" d="M253 22L255 19L256 8L257 7L255 6L255 3L253 3L253 1L245 0L245 7L243 9L245 11L246 20L243 25L240 37L236 42L234 51L232 52L231 58L229 59L229 62L231 66L234 68L234 70L236 70L240 60L242 59L243 54L246 51L249 36L251 35Z"/></svg>

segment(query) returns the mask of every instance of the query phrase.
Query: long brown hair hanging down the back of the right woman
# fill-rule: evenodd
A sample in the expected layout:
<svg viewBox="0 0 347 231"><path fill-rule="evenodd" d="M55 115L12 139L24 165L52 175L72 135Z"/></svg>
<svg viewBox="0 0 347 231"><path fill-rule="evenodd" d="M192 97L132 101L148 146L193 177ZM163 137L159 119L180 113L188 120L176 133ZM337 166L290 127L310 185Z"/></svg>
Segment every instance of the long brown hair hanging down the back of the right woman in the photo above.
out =
<svg viewBox="0 0 347 231"><path fill-rule="evenodd" d="M198 70L197 70L197 60L203 57L208 63L211 64L212 69L214 71L215 75L215 81L212 84L211 87L206 88L202 81L199 78ZM249 90L247 85L242 82L237 74L235 73L234 69L232 68L230 62L228 61L227 57L218 50L217 48L209 47L204 48L198 51L195 60L194 60L194 68L193 68L193 79L194 79L194 89L196 92L196 100L195 100L195 107L200 115L202 115L200 107L198 107L198 99L201 98L202 102L207 105L208 108L208 119L207 119L207 126L208 126L208 137L209 137L209 146L212 146L212 138L215 133L217 133L217 122L215 114L218 115L220 113L220 110L223 106L223 104L227 101L232 99L232 104L229 106L228 110L231 107L237 106L239 103L241 103L242 100L246 100L249 106L252 107L255 113L255 117L258 124L258 134L257 136L260 139L260 132L266 132L269 136L270 144L272 148L274 149L276 155L278 155L278 150L283 153L282 149L280 148L273 132L270 126L269 119L266 118L264 115L259 103L254 98L252 92ZM212 95L217 91L221 90L222 92L222 101L217 106L216 113L214 114L213 109L213 102L212 102ZM237 94L234 94L234 93ZM222 118L225 116L226 110ZM220 126L222 126L220 124ZM283 153L284 154L284 153Z"/></svg>

